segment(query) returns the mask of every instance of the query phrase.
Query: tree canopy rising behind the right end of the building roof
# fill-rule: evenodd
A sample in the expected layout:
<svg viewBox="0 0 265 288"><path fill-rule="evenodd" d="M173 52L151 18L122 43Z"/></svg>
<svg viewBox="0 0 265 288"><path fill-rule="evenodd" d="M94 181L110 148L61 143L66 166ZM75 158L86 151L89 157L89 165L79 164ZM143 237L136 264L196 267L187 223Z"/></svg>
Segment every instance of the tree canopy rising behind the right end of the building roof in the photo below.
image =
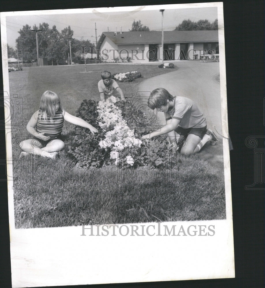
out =
<svg viewBox="0 0 265 288"><path fill-rule="evenodd" d="M188 30L218 30L218 20L215 19L212 23L209 20L199 20L193 22L190 19L183 20L181 24L176 26L174 31L188 31Z"/></svg>

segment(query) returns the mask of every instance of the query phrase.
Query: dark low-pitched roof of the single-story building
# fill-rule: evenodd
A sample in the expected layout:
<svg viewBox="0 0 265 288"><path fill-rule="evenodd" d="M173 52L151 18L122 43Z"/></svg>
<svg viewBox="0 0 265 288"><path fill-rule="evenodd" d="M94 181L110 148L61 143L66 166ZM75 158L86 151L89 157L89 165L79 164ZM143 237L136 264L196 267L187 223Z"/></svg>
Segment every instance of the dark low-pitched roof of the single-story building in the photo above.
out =
<svg viewBox="0 0 265 288"><path fill-rule="evenodd" d="M96 49L105 37L115 44L157 44L161 43L161 31L103 32ZM218 42L218 30L164 31L164 43Z"/></svg>

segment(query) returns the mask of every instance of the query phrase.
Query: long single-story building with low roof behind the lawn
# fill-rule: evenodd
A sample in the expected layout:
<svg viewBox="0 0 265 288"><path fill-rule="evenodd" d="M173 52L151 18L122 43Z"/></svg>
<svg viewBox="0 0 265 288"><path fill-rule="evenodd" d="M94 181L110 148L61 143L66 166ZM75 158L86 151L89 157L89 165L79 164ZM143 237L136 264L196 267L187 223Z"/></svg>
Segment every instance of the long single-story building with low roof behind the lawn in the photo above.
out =
<svg viewBox="0 0 265 288"><path fill-rule="evenodd" d="M97 42L103 60L132 62L193 60L202 54L219 54L218 30L103 32Z"/></svg>

